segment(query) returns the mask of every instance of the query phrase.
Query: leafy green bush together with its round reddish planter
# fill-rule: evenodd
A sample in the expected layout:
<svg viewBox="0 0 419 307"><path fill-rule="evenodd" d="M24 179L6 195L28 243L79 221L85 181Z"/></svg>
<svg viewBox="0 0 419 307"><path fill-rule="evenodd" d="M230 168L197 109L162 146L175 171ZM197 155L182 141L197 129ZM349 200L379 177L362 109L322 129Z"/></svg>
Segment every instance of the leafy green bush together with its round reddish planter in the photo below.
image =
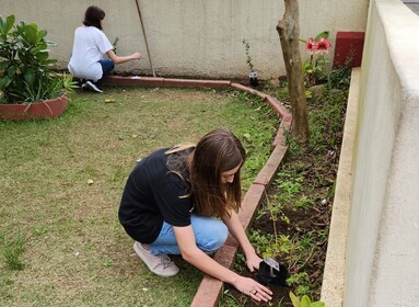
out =
<svg viewBox="0 0 419 307"><path fill-rule="evenodd" d="M51 70L54 42L34 23L15 24L14 15L0 16L0 118L30 120L59 116L73 91L71 76Z"/></svg>

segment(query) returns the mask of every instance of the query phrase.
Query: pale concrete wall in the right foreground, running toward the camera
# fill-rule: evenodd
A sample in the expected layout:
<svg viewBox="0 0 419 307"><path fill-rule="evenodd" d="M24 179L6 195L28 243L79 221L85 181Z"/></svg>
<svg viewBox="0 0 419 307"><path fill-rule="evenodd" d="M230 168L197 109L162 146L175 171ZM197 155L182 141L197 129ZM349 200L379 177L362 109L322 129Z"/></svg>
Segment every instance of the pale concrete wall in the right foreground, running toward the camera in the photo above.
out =
<svg viewBox="0 0 419 307"><path fill-rule="evenodd" d="M418 33L399 0L371 1L344 306L418 306Z"/></svg>

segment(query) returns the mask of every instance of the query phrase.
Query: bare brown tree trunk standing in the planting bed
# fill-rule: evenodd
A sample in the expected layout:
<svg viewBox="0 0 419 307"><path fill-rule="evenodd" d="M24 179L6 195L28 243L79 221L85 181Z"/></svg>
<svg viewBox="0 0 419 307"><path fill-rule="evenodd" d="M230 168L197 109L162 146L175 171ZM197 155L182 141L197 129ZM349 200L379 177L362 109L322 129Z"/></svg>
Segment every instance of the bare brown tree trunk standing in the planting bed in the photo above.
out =
<svg viewBox="0 0 419 307"><path fill-rule="evenodd" d="M281 41L283 60L288 76L288 90L291 102L291 135L300 143L307 143L309 114L305 99L304 75L300 54L299 1L283 0L286 12L278 22L277 31Z"/></svg>

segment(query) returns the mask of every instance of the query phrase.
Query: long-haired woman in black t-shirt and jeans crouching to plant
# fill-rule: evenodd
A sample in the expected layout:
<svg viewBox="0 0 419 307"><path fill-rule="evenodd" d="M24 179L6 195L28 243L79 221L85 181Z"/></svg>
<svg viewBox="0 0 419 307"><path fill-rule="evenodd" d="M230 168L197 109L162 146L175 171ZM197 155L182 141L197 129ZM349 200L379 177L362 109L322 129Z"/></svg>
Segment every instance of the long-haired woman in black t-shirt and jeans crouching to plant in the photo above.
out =
<svg viewBox="0 0 419 307"><path fill-rule="evenodd" d="M177 274L167 254L182 254L254 299L271 299L269 288L208 255L224 243L230 231L245 253L247 268L259 269L261 259L237 216L245 156L231 132L214 129L196 146L163 148L138 162L125 186L119 220L150 271L161 276Z"/></svg>

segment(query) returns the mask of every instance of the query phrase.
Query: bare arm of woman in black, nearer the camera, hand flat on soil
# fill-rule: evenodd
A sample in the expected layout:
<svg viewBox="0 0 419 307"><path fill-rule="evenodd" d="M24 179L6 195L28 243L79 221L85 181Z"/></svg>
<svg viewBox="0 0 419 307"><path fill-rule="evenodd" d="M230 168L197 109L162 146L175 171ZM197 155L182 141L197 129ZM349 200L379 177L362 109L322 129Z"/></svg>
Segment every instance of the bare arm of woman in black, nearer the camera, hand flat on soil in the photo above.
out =
<svg viewBox="0 0 419 307"><path fill-rule="evenodd" d="M226 269L203 251L198 249L191 226L173 227L177 245L185 261L201 270L203 273L219 278L222 282L232 284L240 292L252 296L256 300L268 302L271 299L272 292L256 281L243 277L237 273Z"/></svg>

